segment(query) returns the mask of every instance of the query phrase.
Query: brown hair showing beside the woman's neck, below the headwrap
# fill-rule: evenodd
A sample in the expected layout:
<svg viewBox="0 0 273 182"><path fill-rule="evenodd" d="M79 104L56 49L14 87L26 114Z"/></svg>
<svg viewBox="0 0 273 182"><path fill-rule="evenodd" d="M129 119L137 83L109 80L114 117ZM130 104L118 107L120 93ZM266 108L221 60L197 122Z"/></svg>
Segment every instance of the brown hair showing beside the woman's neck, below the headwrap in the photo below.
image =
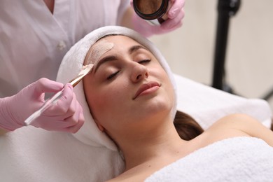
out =
<svg viewBox="0 0 273 182"><path fill-rule="evenodd" d="M194 139L204 132L195 119L181 111L176 112L174 127L176 127L176 131L179 133L180 138L186 141Z"/></svg>

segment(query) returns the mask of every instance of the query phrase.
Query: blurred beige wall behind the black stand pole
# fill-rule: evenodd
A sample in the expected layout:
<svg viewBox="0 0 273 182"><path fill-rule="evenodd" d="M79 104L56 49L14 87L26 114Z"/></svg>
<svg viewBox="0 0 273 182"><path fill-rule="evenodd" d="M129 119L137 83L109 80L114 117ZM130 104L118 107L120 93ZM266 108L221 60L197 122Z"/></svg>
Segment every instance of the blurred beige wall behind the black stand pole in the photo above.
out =
<svg viewBox="0 0 273 182"><path fill-rule="evenodd" d="M207 85L214 64L217 4L186 0L183 26L150 38L174 73ZM244 97L262 97L273 88L272 0L241 0L237 15L230 18L225 70L229 85Z"/></svg>

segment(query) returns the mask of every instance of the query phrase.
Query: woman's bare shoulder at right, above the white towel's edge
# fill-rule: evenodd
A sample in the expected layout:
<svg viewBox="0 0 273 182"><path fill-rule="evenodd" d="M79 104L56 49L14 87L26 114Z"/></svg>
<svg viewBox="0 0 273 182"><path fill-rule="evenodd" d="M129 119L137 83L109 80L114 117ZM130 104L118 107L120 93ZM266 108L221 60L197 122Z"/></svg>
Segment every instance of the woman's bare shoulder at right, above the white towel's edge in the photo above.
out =
<svg viewBox="0 0 273 182"><path fill-rule="evenodd" d="M260 121L246 114L232 114L218 120L206 131L209 134L220 134L223 137L249 136L263 139L273 146L273 132L265 127Z"/></svg>

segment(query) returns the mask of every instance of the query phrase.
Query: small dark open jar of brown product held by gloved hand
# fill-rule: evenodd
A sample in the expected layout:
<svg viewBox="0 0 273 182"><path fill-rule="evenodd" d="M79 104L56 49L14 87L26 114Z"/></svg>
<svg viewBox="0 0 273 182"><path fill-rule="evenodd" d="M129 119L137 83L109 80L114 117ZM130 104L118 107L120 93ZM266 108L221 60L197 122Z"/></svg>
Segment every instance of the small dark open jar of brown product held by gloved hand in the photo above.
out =
<svg viewBox="0 0 273 182"><path fill-rule="evenodd" d="M140 18L152 25L160 25L168 18L169 0L133 0L133 7Z"/></svg>

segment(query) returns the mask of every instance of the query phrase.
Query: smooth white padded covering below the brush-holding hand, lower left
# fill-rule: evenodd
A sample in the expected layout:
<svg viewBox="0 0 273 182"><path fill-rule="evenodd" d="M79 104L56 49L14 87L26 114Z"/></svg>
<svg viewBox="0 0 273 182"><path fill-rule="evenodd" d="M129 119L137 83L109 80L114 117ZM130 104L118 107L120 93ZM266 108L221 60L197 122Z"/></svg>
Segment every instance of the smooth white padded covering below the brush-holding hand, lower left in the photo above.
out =
<svg viewBox="0 0 273 182"><path fill-rule="evenodd" d="M123 172L119 153L71 134L22 127L0 137L0 181L106 181Z"/></svg>

